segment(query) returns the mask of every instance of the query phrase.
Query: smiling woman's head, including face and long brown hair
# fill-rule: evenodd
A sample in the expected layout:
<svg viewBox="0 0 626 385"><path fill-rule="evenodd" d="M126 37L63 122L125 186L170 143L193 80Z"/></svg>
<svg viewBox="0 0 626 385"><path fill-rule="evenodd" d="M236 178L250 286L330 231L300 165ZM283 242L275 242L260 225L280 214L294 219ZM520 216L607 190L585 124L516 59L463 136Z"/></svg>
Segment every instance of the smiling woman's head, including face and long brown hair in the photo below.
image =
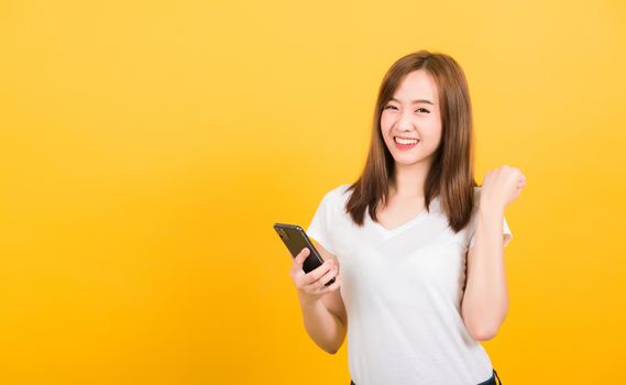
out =
<svg viewBox="0 0 626 385"><path fill-rule="evenodd" d="M365 170L353 185L348 210L355 223L363 222L365 208L376 220L378 204L387 200L396 179L408 176L410 190L422 195L426 206L441 195L450 226L459 231L472 210L473 162L472 108L463 70L444 54L406 55L387 70L380 87Z"/></svg>

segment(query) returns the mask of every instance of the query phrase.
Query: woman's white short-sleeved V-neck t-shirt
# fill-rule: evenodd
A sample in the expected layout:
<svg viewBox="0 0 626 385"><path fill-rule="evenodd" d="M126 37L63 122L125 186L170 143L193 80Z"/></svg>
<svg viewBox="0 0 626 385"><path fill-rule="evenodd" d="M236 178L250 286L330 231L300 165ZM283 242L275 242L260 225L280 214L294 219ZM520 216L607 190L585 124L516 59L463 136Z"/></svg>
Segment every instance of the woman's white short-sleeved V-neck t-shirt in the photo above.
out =
<svg viewBox="0 0 626 385"><path fill-rule="evenodd" d="M492 363L461 318L472 220L449 228L439 197L414 219L387 230L365 211L362 228L344 212L352 191L327 193L307 233L341 265L348 314L348 361L356 385L469 385L492 376ZM513 234L504 219L505 245Z"/></svg>

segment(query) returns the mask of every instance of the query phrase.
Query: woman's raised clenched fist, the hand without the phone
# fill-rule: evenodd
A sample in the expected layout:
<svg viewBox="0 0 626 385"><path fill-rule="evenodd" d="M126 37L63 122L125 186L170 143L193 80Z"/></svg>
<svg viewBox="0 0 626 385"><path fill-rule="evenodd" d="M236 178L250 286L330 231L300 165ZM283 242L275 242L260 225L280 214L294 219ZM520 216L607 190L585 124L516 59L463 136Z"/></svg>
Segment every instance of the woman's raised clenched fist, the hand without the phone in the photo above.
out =
<svg viewBox="0 0 626 385"><path fill-rule="evenodd" d="M504 211L510 202L519 197L525 186L526 177L519 168L508 165L495 168L485 175L481 188L480 205L482 207L486 205Z"/></svg>

